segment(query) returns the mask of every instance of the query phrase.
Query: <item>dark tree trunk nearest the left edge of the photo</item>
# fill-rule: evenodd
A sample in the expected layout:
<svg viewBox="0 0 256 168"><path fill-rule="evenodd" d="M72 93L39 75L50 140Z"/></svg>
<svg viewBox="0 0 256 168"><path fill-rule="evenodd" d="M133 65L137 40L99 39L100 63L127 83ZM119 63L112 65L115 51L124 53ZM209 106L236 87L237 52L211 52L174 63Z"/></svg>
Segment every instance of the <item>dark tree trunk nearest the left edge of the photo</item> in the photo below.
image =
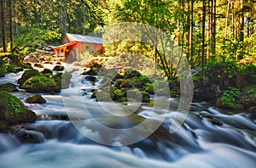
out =
<svg viewBox="0 0 256 168"><path fill-rule="evenodd" d="M5 0L1 3L1 18L2 18L2 41L3 41L3 53L7 53L7 32L6 32L6 20L5 20Z"/></svg>

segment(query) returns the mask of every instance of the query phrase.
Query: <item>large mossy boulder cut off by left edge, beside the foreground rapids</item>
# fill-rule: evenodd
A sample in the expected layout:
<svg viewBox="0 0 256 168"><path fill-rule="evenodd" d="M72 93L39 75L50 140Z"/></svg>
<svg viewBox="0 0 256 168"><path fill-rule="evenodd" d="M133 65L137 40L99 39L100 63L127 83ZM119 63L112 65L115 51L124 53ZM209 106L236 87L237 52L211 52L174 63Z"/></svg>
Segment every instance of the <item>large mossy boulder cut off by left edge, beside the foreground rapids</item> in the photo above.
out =
<svg viewBox="0 0 256 168"><path fill-rule="evenodd" d="M34 122L37 116L34 112L9 92L0 91L0 120L9 124Z"/></svg>

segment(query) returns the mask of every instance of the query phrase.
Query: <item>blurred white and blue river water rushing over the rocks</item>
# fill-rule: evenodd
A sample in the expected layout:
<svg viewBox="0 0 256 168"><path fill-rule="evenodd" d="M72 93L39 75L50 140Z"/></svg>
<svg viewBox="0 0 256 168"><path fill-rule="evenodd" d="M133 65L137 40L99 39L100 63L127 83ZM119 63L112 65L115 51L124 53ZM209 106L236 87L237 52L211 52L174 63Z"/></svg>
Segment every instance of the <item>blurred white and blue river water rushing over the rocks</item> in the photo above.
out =
<svg viewBox="0 0 256 168"><path fill-rule="evenodd" d="M255 167L256 124L250 115L230 113L207 103L193 103L187 115L175 110L177 98L160 97L152 97L149 104L103 103L102 107L90 99L88 91L95 87L85 76L80 76L81 69L75 69L69 88L56 95L43 94L46 104L25 103L38 115L35 123L0 133L1 168ZM22 72L8 74L0 78L0 83L16 83L21 75ZM13 94L23 102L32 95L22 90ZM154 107L152 104L156 101L170 106ZM129 120L120 120L106 113L104 107L117 115L128 113L132 108L136 108L136 112ZM116 129L136 125L141 118L154 124L163 111L167 113L152 135L122 146L120 142L124 139L140 139L141 135L100 130L84 115L84 110L98 122ZM154 111L153 115L148 115L149 111ZM176 125L180 125L177 132L171 133L170 127ZM84 136L84 132L90 136ZM113 145L99 143L103 138Z"/></svg>

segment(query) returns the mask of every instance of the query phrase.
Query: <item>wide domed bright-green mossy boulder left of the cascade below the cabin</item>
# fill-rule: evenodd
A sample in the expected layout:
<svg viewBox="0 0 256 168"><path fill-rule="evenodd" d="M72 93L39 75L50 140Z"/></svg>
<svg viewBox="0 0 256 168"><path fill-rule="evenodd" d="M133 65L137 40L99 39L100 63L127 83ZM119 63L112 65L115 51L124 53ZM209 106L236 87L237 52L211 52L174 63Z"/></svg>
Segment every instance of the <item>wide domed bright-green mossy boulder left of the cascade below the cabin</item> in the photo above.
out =
<svg viewBox="0 0 256 168"><path fill-rule="evenodd" d="M26 92L60 92L60 87L57 86L53 79L47 76L32 76L25 81L21 87Z"/></svg>

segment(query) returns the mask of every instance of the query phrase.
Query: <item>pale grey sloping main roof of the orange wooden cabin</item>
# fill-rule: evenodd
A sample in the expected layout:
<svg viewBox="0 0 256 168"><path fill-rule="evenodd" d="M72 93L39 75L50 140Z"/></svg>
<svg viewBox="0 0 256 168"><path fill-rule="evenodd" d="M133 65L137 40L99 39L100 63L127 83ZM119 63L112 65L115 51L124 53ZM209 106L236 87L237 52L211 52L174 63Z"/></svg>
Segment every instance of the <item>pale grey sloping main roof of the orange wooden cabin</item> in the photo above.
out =
<svg viewBox="0 0 256 168"><path fill-rule="evenodd" d="M82 36L82 35L67 33L65 38L68 38L70 42L90 42L90 43L102 44L102 37L97 37L97 36Z"/></svg>

